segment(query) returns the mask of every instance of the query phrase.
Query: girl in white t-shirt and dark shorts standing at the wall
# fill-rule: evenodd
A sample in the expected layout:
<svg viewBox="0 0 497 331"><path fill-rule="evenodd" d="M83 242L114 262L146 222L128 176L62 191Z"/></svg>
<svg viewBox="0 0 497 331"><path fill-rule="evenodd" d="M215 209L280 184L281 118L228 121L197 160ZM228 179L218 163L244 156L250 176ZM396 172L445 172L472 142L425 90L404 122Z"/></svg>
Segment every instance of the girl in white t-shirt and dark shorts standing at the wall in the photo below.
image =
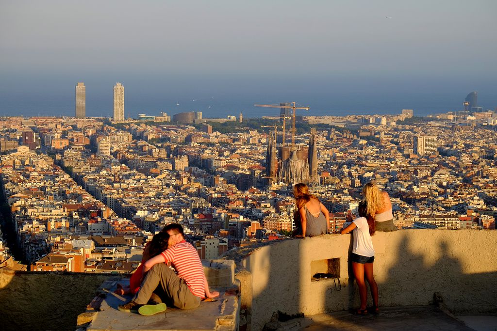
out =
<svg viewBox="0 0 497 331"><path fill-rule="evenodd" d="M359 287L359 296L361 298L361 307L356 311L358 315L367 314L366 295L367 288L364 282L364 274L371 289L373 297L373 312L378 313L378 285L373 276L374 249L371 242L371 236L375 232L375 222L371 215L367 214L367 204L364 201L359 203L359 216L352 220L352 215L347 215L347 220L351 223L345 223L347 226L340 230L340 234L353 231L354 243L352 247L352 268L354 270L355 282Z"/></svg>

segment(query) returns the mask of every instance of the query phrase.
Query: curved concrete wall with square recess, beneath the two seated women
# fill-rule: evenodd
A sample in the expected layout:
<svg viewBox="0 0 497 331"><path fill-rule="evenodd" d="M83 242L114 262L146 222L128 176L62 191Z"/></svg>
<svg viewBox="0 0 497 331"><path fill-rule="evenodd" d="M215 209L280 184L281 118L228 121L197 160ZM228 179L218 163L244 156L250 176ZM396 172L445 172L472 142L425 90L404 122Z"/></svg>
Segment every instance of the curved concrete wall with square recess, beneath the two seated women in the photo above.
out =
<svg viewBox="0 0 497 331"><path fill-rule="evenodd" d="M429 305L439 292L455 313L497 312L496 242L497 231L377 233L374 272L380 305ZM357 307L350 245L350 235L323 235L230 252L226 258L237 262L242 284L241 327L261 330L277 311L310 316ZM341 289L338 279L311 281L311 263L328 259L340 260Z"/></svg>

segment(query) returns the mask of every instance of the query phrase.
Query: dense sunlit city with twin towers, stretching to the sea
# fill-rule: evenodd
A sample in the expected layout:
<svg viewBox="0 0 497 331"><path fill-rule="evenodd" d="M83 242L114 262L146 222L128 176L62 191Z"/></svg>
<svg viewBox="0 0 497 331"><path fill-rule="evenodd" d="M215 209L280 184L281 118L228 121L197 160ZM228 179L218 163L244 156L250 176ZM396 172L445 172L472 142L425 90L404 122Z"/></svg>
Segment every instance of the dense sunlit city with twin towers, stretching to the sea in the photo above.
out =
<svg viewBox="0 0 497 331"><path fill-rule="evenodd" d="M262 119L125 119L120 83L112 118L85 117L82 82L75 99L75 117L1 119L0 268L129 273L171 222L216 259L289 238L296 183L330 210L328 233L370 181L389 193L398 229L495 230L497 114L476 92L422 118L314 117L281 103L258 105L279 111Z"/></svg>

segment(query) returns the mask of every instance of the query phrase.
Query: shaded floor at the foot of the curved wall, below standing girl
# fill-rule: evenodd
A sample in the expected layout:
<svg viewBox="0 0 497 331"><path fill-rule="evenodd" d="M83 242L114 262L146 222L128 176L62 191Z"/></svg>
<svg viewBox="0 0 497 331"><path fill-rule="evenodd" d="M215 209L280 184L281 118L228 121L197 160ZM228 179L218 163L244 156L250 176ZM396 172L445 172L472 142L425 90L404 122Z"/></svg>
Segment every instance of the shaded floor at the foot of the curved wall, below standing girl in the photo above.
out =
<svg viewBox="0 0 497 331"><path fill-rule="evenodd" d="M338 312L310 318L313 322L306 331L474 331L433 306L383 308L378 315Z"/></svg>

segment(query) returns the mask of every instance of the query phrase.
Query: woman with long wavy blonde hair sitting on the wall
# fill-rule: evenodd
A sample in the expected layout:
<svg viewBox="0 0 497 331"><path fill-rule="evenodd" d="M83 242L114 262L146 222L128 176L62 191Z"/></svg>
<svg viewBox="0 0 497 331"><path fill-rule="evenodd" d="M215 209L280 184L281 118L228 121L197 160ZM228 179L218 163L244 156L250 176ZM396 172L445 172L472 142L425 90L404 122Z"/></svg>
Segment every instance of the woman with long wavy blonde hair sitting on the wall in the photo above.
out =
<svg viewBox="0 0 497 331"><path fill-rule="evenodd" d="M367 203L367 214L375 220L376 231L396 231L392 202L388 193L380 191L374 183L367 183L362 188L363 200Z"/></svg>

